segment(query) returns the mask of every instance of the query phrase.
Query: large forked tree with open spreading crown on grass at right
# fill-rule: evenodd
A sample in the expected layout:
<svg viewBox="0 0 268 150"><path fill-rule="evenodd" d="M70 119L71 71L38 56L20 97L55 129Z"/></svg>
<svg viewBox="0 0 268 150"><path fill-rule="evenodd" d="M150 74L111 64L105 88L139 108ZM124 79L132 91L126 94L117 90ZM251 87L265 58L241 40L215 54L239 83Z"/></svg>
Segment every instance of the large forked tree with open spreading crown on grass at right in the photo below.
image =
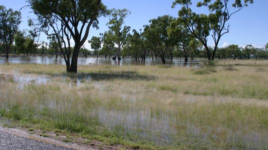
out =
<svg viewBox="0 0 268 150"><path fill-rule="evenodd" d="M253 0L243 0L243 2L241 0L201 0L197 2L197 7L205 6L208 8L208 15L193 12L190 8L191 0L175 0L172 7L177 4L182 5L178 13L178 19L183 22L183 26L188 29L192 36L202 42L206 49L208 60L213 60L220 38L229 32L229 19L234 13L246 7L248 3L253 3ZM207 45L209 35L214 41L212 52L210 52Z"/></svg>

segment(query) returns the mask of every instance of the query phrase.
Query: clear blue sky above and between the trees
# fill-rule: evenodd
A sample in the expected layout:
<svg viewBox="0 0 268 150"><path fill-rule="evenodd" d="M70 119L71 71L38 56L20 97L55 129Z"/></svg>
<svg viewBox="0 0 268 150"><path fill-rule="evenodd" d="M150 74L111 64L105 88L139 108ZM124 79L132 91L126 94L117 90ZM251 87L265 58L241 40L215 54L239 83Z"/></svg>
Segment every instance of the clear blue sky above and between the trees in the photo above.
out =
<svg viewBox="0 0 268 150"><path fill-rule="evenodd" d="M21 7L27 5L25 0L0 0L0 4L6 8L19 10ZM143 29L144 24L149 24L149 20L169 14L177 17L180 6L171 8L174 0L102 0L108 8L122 9L127 8L131 14L126 18L125 25L131 26L132 29ZM192 0L193 11L197 13L207 13L207 8L197 8L196 3L200 0ZM230 0L233 2L234 0ZM223 35L220 40L219 47L229 44L238 44L245 46L252 44L255 47L264 47L268 43L268 0L254 0L253 4L243 8L241 11L235 13L228 21L230 24L230 32ZM20 29L30 29L27 20L35 18L35 14L31 13L31 9L24 8L22 11L22 24ZM99 36L108 30L106 23L109 18L101 17L99 29L91 28L88 39L92 36ZM41 35L40 40L48 41L46 35ZM212 38L209 38L208 44L213 46ZM89 43L85 43L87 48L90 48Z"/></svg>

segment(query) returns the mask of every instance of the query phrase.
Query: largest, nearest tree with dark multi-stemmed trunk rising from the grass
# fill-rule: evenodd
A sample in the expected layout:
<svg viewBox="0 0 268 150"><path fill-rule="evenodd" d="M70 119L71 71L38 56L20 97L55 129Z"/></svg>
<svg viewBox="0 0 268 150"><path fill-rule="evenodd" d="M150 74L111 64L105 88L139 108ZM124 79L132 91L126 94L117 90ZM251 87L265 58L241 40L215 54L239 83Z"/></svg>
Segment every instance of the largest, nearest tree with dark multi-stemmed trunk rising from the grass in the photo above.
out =
<svg viewBox="0 0 268 150"><path fill-rule="evenodd" d="M29 20L29 25L35 26L38 32L55 35L66 62L67 72L77 72L80 48L87 40L90 27L98 29L98 18L108 12L102 0L27 1L37 15L36 21ZM73 52L71 41L75 43Z"/></svg>

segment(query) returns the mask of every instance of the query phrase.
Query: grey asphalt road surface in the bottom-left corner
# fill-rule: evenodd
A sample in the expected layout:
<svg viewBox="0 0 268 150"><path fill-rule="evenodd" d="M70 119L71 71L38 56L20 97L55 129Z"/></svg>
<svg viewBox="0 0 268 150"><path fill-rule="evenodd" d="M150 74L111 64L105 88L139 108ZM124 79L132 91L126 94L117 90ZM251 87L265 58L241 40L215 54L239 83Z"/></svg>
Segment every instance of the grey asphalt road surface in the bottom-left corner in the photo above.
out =
<svg viewBox="0 0 268 150"><path fill-rule="evenodd" d="M0 149L69 149L58 145L33 140L26 137L16 136L10 133L0 131Z"/></svg>

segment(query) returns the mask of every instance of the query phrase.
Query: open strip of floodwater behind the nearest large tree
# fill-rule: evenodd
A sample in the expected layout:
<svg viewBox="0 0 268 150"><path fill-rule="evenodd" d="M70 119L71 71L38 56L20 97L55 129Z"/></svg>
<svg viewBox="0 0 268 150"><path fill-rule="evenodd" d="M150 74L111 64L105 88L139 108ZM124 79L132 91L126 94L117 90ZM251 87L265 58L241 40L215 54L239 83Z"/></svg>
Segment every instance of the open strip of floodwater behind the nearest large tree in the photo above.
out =
<svg viewBox="0 0 268 150"><path fill-rule="evenodd" d="M5 57L0 57L0 64L4 63L38 63L38 64L65 64L64 58L56 58L55 56L20 56L20 57L10 57L6 59ZM183 59L166 59L166 65L174 65L180 67L198 67L200 64L200 60L193 60L184 62ZM131 58L124 58L120 61L113 60L112 58L78 58L78 64L80 65L98 65L98 64L111 64L111 65L161 65L161 59L152 60L151 58L147 58L146 60L134 60Z"/></svg>

